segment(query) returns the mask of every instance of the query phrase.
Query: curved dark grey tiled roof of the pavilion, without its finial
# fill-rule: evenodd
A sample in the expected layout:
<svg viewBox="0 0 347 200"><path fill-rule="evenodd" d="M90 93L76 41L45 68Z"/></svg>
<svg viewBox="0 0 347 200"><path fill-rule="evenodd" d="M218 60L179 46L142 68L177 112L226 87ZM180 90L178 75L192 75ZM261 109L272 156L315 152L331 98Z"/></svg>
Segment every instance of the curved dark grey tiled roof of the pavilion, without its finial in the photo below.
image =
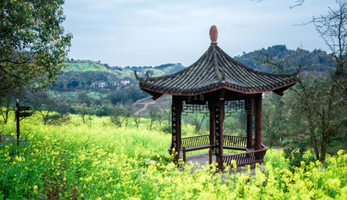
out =
<svg viewBox="0 0 347 200"><path fill-rule="evenodd" d="M272 91L284 86L294 85L294 74L272 74L253 70L229 57L216 44L193 65L176 73L161 77L139 77L142 89L167 93L204 93L213 88L226 88L241 93Z"/></svg>

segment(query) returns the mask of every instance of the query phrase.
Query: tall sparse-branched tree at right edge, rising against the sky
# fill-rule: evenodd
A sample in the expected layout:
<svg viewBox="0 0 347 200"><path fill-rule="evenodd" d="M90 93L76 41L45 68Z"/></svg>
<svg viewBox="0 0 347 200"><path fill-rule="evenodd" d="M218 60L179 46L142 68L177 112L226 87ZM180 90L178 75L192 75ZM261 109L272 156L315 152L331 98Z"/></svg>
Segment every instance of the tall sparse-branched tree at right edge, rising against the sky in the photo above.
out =
<svg viewBox="0 0 347 200"><path fill-rule="evenodd" d="M319 87L324 90L318 90L316 94L320 104L310 105L312 107L311 115L317 115L318 119L318 137L315 130L311 130L311 143L314 146L316 158L324 163L328 145L333 140L341 139L347 124L346 112L347 100L347 74L345 65L347 63L347 2L345 0L336 0L337 10L329 8L326 15L313 17L312 23L319 36L332 51L334 57L335 69L329 76L323 77ZM300 80L301 81L301 80ZM302 82L302 81L301 81ZM309 94L303 83L302 97ZM306 100L307 101L307 100ZM345 112L344 112L345 111ZM346 113L345 113L346 114ZM320 153L320 154L319 154Z"/></svg>

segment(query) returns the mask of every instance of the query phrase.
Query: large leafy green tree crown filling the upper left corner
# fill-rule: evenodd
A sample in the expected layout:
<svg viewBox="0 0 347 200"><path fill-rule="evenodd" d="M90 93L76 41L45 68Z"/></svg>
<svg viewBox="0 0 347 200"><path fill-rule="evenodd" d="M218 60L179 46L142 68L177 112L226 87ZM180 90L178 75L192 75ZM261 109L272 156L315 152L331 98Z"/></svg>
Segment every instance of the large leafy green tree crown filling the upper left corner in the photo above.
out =
<svg viewBox="0 0 347 200"><path fill-rule="evenodd" d="M67 60L64 0L0 1L0 95L15 88L45 87Z"/></svg>

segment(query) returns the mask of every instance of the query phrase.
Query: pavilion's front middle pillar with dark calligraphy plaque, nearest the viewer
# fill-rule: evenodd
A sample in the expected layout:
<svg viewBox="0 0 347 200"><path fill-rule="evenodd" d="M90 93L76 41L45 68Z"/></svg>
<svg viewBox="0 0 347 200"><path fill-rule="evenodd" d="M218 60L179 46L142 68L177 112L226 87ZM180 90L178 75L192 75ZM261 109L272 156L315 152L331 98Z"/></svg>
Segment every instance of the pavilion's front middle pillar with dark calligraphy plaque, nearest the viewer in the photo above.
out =
<svg viewBox="0 0 347 200"><path fill-rule="evenodd" d="M221 89L219 94L219 100L215 106L215 155L218 168L223 169L223 122L224 122L224 94L225 90Z"/></svg>

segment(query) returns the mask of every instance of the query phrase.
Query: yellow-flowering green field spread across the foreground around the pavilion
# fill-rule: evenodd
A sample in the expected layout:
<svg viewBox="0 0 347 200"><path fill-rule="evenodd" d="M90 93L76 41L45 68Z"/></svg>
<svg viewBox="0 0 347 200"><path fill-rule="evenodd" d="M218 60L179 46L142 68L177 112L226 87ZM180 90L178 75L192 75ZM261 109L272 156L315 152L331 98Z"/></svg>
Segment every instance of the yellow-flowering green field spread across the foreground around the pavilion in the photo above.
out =
<svg viewBox="0 0 347 200"><path fill-rule="evenodd" d="M91 126L44 126L34 115L22 121L26 143L0 145L0 199L347 199L347 154L288 169L282 152L269 150L266 173L212 175L209 167L191 173L170 163L170 136L109 125L94 117ZM141 127L142 126L142 127ZM2 134L15 133L12 123ZM146 166L144 160L159 163ZM229 178L221 178L221 176Z"/></svg>

